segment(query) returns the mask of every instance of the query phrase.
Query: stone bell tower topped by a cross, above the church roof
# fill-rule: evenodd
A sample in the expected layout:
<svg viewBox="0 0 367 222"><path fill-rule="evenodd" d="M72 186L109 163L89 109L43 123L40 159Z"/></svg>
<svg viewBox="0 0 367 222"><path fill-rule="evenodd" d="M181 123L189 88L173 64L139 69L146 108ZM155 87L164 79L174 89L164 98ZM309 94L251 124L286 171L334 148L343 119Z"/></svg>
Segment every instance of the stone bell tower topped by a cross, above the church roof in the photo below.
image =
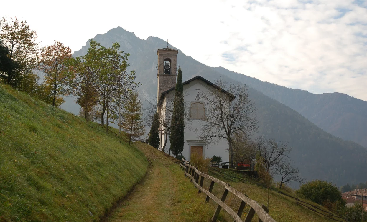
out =
<svg viewBox="0 0 367 222"><path fill-rule="evenodd" d="M161 48L157 50L158 55L158 92L157 101L161 96L161 93L176 86L176 66L177 66L177 53L178 50L167 48Z"/></svg>

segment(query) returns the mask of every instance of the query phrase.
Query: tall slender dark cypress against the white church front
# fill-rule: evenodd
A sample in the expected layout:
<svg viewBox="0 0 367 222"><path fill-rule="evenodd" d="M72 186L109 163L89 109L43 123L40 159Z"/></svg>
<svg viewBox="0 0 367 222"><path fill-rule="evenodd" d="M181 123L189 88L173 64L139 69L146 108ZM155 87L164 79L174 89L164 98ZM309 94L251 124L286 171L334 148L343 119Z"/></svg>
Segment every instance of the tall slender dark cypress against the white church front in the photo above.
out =
<svg viewBox="0 0 367 222"><path fill-rule="evenodd" d="M183 120L185 107L183 104L183 84L182 84L182 71L178 69L177 83L175 87L175 98L173 101L173 114L171 122L171 134L170 143L171 151L177 156L183 151L183 134L185 129L185 122Z"/></svg>

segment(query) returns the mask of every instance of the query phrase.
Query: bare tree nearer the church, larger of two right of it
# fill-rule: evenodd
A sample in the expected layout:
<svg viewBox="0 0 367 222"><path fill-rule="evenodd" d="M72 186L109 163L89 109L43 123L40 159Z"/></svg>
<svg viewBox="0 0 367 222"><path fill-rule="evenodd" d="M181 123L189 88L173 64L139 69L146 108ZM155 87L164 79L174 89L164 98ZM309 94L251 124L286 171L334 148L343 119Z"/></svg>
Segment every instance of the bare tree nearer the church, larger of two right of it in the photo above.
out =
<svg viewBox="0 0 367 222"><path fill-rule="evenodd" d="M263 157L266 171L269 173L274 173L272 170L275 166L280 166L289 160L288 154L292 148L288 147L288 143L276 142L275 139L265 140L264 136L260 136L255 144L260 156Z"/></svg>

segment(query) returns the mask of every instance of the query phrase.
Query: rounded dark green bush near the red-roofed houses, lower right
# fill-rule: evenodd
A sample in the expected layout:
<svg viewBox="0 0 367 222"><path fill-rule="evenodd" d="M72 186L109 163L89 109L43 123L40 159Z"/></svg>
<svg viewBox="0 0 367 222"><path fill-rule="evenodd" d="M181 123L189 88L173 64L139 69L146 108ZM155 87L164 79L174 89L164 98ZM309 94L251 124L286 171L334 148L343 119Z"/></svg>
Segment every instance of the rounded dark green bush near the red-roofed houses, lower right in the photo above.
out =
<svg viewBox="0 0 367 222"><path fill-rule="evenodd" d="M297 193L318 204L324 204L327 201L334 203L342 201L342 195L337 186L327 181L313 180L301 185Z"/></svg>

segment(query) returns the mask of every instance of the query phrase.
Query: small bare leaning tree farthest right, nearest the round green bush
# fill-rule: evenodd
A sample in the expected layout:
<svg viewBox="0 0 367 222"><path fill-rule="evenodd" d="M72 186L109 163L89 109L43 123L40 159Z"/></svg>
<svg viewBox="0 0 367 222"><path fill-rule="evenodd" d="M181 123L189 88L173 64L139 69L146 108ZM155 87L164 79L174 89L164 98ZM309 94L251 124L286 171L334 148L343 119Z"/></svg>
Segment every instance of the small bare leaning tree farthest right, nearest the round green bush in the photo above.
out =
<svg viewBox="0 0 367 222"><path fill-rule="evenodd" d="M299 176L299 169L298 167L294 167L290 161L285 161L280 163L279 165L275 166L275 174L279 175L281 180L279 184L279 189L284 183L290 181L296 181L299 183L303 183L305 178Z"/></svg>

